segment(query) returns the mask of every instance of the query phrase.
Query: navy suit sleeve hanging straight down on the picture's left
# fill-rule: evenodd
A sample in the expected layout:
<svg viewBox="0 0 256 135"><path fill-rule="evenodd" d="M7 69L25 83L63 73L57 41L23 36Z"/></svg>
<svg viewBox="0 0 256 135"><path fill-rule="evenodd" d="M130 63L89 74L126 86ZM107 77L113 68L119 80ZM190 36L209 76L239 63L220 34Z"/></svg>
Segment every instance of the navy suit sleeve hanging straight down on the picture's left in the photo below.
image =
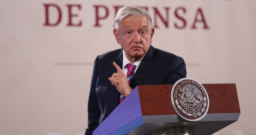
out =
<svg viewBox="0 0 256 135"><path fill-rule="evenodd" d="M93 131L99 126L99 118L101 116L101 110L96 94L98 57L94 61L93 76L91 78L91 89L88 101L88 128L85 131L85 135L93 134Z"/></svg>

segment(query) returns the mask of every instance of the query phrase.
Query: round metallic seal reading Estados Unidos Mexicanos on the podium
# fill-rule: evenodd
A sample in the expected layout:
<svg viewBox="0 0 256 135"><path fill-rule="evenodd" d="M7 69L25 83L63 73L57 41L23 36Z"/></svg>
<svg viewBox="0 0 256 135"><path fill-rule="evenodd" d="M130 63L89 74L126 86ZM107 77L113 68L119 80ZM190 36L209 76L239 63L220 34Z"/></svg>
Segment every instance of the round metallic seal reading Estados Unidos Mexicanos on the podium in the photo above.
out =
<svg viewBox="0 0 256 135"><path fill-rule="evenodd" d="M200 120L208 112L208 94L202 84L191 78L182 78L173 85L171 99L174 110L186 120Z"/></svg>

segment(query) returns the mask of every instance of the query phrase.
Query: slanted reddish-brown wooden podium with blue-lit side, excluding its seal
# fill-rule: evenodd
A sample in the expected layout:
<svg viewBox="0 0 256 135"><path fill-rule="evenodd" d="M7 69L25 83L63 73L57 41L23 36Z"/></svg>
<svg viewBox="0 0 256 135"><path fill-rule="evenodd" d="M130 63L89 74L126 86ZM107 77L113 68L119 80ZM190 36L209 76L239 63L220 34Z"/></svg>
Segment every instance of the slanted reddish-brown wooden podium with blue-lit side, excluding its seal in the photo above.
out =
<svg viewBox="0 0 256 135"><path fill-rule="evenodd" d="M236 84L202 85L210 105L201 120L188 121L176 113L170 98L173 85L141 85L114 109L93 135L150 135L180 127L191 128L194 135L211 135L237 121L240 107Z"/></svg>

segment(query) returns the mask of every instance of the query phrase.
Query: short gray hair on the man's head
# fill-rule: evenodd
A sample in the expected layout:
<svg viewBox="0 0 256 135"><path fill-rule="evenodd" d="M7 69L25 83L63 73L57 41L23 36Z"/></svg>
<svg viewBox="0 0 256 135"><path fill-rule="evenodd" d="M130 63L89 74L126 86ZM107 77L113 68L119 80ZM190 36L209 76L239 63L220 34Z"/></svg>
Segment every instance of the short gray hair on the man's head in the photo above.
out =
<svg viewBox="0 0 256 135"><path fill-rule="evenodd" d="M119 33L119 23L125 18L128 18L129 16L145 16L150 24L150 30L152 29L152 20L148 12L138 7L125 6L121 8L116 14L115 28L118 31L118 33Z"/></svg>

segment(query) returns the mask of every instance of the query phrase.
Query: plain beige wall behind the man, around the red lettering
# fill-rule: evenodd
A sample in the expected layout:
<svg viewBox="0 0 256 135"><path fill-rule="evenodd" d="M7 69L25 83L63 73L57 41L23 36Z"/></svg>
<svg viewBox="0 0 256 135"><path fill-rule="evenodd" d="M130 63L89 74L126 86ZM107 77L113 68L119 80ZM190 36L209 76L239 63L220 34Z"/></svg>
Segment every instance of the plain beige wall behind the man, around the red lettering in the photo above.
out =
<svg viewBox="0 0 256 135"><path fill-rule="evenodd" d="M57 26L44 26L45 6L61 9ZM67 4L74 24L67 26ZM109 14L95 27L95 7ZM252 135L256 124L255 0L0 0L0 135L83 135L87 127L87 101L93 62L97 55L120 48L112 34L114 6L148 7L155 25L154 47L181 56L187 77L204 83L236 83L241 115L217 135ZM186 27L178 14L186 20ZM198 8L204 20L192 29ZM99 15L105 10L100 8ZM56 8L49 19L56 22ZM202 19L201 15L197 16ZM106 80L108 81L108 80Z"/></svg>

